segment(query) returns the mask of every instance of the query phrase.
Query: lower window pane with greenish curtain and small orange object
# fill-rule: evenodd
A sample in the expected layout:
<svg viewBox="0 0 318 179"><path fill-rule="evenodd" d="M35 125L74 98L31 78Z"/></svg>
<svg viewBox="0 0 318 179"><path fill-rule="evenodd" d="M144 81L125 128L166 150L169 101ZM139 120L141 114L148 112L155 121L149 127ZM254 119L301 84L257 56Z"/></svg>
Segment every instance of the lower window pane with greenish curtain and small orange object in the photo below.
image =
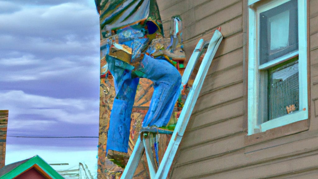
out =
<svg viewBox="0 0 318 179"><path fill-rule="evenodd" d="M281 66L281 65L280 65ZM298 61L269 70L268 119L299 110Z"/></svg>

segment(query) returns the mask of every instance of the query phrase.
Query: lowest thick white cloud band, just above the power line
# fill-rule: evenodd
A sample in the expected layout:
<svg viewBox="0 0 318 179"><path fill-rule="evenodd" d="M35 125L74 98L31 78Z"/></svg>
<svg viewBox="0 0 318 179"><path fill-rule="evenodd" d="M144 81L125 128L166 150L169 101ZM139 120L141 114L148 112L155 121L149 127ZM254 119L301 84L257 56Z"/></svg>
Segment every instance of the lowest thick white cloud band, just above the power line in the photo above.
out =
<svg viewBox="0 0 318 179"><path fill-rule="evenodd" d="M0 91L0 109L8 109L10 120L22 121L19 128L26 128L34 119L18 119L18 116L36 115L45 120L45 124L52 121L98 124L99 100L87 99L58 99L39 95L26 94L23 91ZM27 120L28 122L25 122ZM40 120L40 119L38 119ZM31 121L31 122L30 122ZM15 127L12 123L10 127Z"/></svg>

